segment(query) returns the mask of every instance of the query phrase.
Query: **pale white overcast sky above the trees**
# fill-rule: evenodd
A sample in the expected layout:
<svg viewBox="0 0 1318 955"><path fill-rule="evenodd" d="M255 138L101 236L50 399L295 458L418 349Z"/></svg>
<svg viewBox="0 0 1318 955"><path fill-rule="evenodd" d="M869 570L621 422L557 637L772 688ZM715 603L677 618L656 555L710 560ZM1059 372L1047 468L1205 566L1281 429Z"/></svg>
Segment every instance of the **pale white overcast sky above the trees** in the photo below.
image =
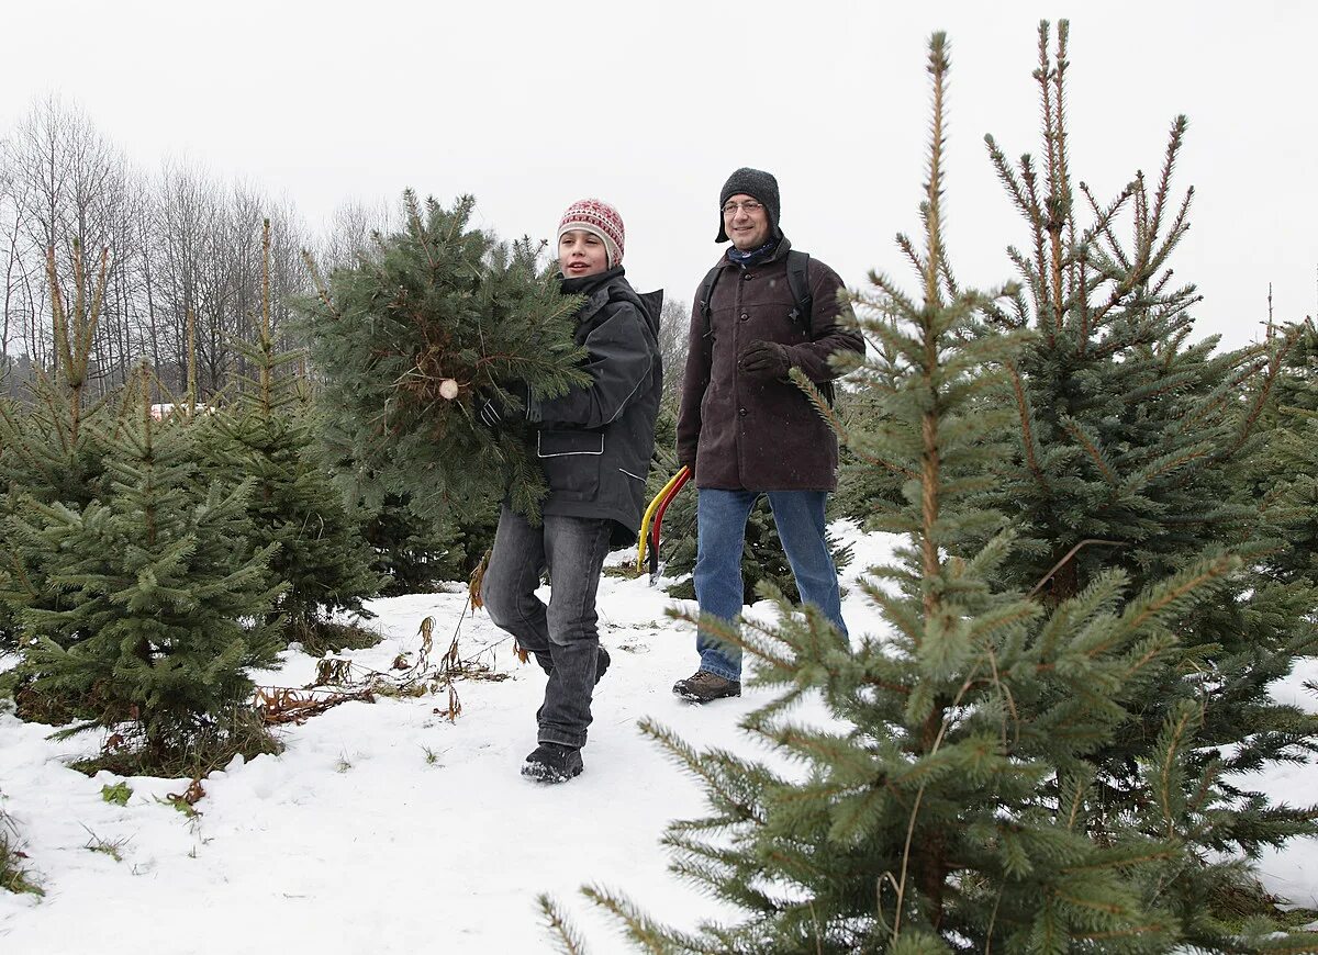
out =
<svg viewBox="0 0 1318 955"><path fill-rule="evenodd" d="M894 7L896 9L888 9ZM919 9L916 9L919 7ZM1173 258L1206 296L1202 335L1243 344L1318 308L1318 4L277 3L8 4L0 133L58 92L152 170L187 158L323 228L405 187L477 198L505 237L552 237L575 199L626 221L627 274L691 300L720 254L718 188L776 174L783 228L853 287L902 273L917 229L927 41L952 42L952 261L1012 278L1025 241L985 155L1039 153L1040 18L1072 22L1072 157L1102 198L1153 175L1190 119L1177 182L1193 227Z"/></svg>

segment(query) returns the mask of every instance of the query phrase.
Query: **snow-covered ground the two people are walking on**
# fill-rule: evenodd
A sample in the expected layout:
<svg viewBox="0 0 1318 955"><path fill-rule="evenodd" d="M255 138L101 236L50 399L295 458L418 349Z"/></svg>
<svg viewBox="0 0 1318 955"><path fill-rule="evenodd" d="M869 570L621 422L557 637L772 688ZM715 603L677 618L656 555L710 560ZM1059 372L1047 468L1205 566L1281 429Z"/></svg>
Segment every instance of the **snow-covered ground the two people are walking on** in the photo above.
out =
<svg viewBox="0 0 1318 955"><path fill-rule="evenodd" d="M857 541L845 585L888 559L890 540L837 530ZM637 721L652 717L695 744L746 748L753 743L737 722L764 697L702 709L677 701L670 688L696 657L688 626L664 615L675 602L645 580L608 577L601 638L613 667L596 696L585 773L538 785L518 771L535 747L543 676L517 661L485 614L461 618L464 602L465 593L376 601L373 624L385 640L349 655L386 669L399 652L419 649L427 615L438 655L461 619L463 656L493 647L511 677L460 682L455 723L438 713L447 699L435 696L341 705L282 730L282 755L211 775L191 821L161 801L187 780L134 777L128 804L108 804L101 786L120 777L87 778L63 765L99 739L54 743L49 727L0 713L0 805L46 889L40 900L0 893L0 952L543 951L540 892L568 910L589 951L627 951L577 894L583 884L619 889L676 925L717 917L714 901L667 872L659 846L671 819L704 814L701 792ZM882 626L854 586L844 614L853 632ZM258 682L301 686L314 668L293 652ZM1306 676L1318 667L1278 694L1314 706L1301 688ZM1277 771L1263 786L1311 802L1318 768ZM96 843L117 846L120 860L88 848ZM1297 842L1260 868L1272 890L1318 906L1315 859L1318 847Z"/></svg>

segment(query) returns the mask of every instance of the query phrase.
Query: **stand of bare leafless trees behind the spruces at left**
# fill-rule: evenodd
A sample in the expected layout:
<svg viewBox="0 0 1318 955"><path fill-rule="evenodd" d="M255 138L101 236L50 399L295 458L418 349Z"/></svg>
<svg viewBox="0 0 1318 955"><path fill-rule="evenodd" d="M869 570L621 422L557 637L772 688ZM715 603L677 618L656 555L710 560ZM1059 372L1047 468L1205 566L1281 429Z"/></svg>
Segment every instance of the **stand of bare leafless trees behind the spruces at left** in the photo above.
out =
<svg viewBox="0 0 1318 955"><path fill-rule="evenodd" d="M272 225L272 320L297 348L290 300L310 287L302 250L327 270L351 262L373 232L397 223L387 203L344 205L324 238L287 202L256 183L228 184L188 162L157 174L132 167L75 105L37 100L0 130L0 387L54 370L47 250L65 302L90 302L75 275L108 274L87 369L88 395L119 387L142 357L175 394L186 387L188 327L195 325L199 394L214 396L241 373L236 339L249 339L260 310L262 223Z"/></svg>

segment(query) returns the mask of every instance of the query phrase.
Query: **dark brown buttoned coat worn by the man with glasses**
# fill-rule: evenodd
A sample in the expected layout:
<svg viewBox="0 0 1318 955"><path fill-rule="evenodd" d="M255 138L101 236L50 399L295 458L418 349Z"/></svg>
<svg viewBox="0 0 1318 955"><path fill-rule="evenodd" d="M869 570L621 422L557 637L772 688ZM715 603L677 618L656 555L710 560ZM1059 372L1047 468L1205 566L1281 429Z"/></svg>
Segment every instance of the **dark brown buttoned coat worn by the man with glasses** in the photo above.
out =
<svg viewBox="0 0 1318 955"><path fill-rule="evenodd" d="M828 365L832 353L865 350L858 332L837 325L842 279L817 258L811 258L808 271L815 299L809 340L789 317L789 248L784 238L772 258L747 269L724 258L708 336L696 290L677 415L677 460L695 464L697 487L837 487L837 436L805 394L787 378L757 379L739 368L742 349L755 339L787 345L792 365L815 382L836 377Z"/></svg>

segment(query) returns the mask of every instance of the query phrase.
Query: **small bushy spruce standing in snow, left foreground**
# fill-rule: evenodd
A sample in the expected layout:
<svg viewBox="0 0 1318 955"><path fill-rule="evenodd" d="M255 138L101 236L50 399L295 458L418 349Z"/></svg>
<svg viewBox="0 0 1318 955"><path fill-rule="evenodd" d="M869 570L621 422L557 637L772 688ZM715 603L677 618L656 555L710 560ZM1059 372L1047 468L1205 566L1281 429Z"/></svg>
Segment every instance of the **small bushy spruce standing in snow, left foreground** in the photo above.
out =
<svg viewBox="0 0 1318 955"><path fill-rule="evenodd" d="M275 547L253 552L245 482L198 499L191 429L150 414L107 457L105 501L82 510L32 501L13 530L40 553L40 599L20 611L34 639L21 670L37 692L78 701L75 730L133 723L148 765L224 734L249 698L246 668L268 665L266 585Z"/></svg>

